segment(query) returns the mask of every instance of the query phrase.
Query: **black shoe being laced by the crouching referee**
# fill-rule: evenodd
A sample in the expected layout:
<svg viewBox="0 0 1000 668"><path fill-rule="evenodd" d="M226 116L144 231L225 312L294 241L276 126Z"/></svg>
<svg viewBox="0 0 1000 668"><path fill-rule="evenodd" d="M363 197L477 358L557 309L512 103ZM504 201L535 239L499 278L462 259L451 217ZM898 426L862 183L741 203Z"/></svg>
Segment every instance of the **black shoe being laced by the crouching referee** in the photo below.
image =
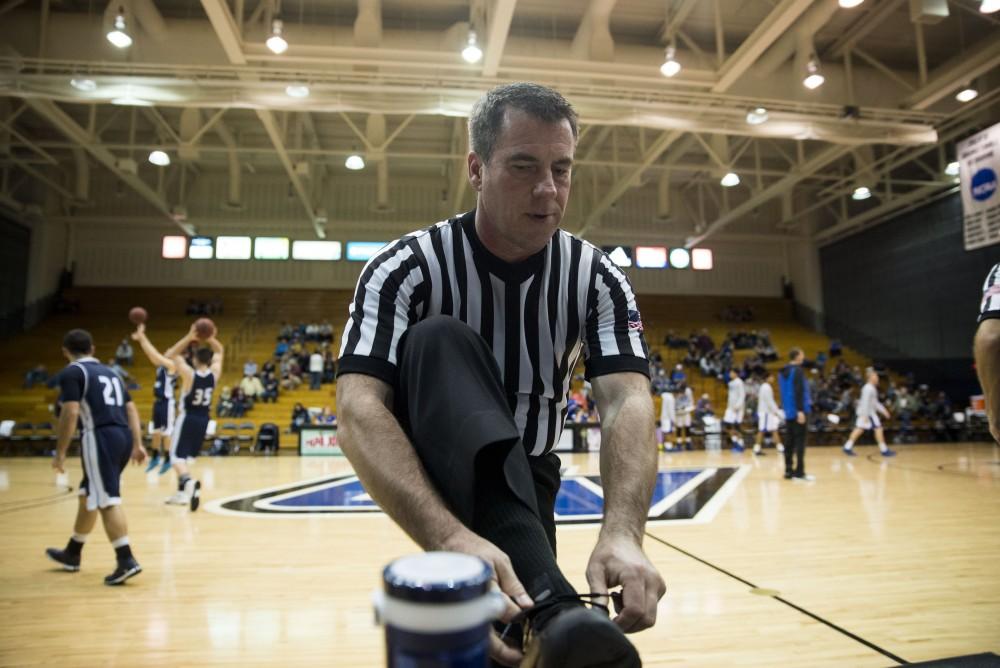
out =
<svg viewBox="0 0 1000 668"><path fill-rule="evenodd" d="M553 596L518 615L514 623L524 624L521 668L641 668L639 653L608 619L607 606L585 600L596 596Z"/></svg>

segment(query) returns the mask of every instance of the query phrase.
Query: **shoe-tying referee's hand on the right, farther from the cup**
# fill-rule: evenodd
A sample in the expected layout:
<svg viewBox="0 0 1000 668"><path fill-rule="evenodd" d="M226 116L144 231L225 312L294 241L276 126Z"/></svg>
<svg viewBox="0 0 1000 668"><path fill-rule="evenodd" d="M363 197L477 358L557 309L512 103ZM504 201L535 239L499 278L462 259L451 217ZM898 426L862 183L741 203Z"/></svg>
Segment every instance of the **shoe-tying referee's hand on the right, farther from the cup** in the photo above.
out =
<svg viewBox="0 0 1000 668"><path fill-rule="evenodd" d="M656 623L656 605L667 591L663 578L650 563L642 547L625 536L602 537L587 564L590 591L607 593L621 587L621 596L612 596L614 622L625 633L635 633Z"/></svg>

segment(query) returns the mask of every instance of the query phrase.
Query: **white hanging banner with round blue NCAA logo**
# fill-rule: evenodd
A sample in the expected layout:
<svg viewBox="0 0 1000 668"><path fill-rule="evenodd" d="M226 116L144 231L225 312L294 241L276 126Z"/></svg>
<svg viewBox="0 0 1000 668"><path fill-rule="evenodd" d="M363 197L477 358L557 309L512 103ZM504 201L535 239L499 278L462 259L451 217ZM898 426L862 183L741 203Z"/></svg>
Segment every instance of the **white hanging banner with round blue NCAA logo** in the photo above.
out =
<svg viewBox="0 0 1000 668"><path fill-rule="evenodd" d="M965 250L1000 243L1000 123L958 143Z"/></svg>

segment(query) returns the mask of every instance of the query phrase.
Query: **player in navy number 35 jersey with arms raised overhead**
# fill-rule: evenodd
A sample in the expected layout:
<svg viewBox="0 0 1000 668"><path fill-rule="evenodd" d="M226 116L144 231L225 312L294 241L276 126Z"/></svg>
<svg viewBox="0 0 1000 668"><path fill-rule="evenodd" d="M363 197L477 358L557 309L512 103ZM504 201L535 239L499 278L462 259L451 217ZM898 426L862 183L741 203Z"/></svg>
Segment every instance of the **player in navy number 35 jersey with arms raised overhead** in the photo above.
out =
<svg viewBox="0 0 1000 668"><path fill-rule="evenodd" d="M177 417L170 438L170 463L177 472L177 492L167 499L173 505L189 505L191 511L201 504L201 481L191 477L189 461L201 454L201 444L211 419L212 395L222 376L223 348L215 336L205 340L208 348L194 353L194 368L184 359L183 352L192 341L199 341L194 325L164 355L172 360L181 377L181 414Z"/></svg>

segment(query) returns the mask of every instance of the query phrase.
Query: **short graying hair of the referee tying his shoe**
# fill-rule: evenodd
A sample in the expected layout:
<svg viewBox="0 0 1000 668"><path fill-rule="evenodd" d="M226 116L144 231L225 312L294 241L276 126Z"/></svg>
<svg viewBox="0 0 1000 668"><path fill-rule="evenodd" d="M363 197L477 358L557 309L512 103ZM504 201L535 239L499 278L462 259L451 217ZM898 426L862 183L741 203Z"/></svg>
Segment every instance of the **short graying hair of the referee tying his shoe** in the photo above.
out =
<svg viewBox="0 0 1000 668"><path fill-rule="evenodd" d="M566 119L576 139L579 131L573 106L555 90L535 83L518 82L492 88L472 105L469 115L469 147L484 162L493 157L504 112L519 109L538 120L558 123Z"/></svg>

